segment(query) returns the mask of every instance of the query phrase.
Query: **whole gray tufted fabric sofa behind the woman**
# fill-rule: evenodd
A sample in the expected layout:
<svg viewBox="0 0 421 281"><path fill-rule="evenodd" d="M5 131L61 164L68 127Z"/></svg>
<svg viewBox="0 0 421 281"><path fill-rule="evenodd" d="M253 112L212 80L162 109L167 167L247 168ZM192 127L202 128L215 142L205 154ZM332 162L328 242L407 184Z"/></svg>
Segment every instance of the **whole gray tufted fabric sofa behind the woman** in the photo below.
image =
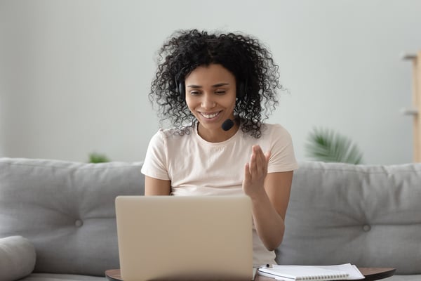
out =
<svg viewBox="0 0 421 281"><path fill-rule="evenodd" d="M119 268L114 198L143 194L141 166L1 158L0 281L104 280ZM300 163L276 254L421 280L421 164Z"/></svg>

